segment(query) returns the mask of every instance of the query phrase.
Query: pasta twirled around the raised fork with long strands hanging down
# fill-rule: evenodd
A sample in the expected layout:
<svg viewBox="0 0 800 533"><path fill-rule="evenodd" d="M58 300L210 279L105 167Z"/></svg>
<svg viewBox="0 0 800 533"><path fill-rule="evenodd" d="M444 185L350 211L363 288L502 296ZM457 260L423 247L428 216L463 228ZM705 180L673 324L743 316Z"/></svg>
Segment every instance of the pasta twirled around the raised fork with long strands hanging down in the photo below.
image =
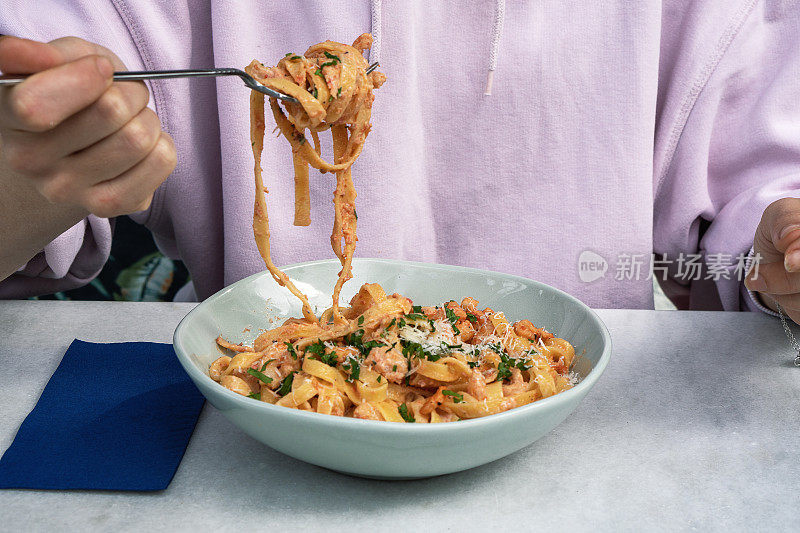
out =
<svg viewBox="0 0 800 533"><path fill-rule="evenodd" d="M296 98L299 103L284 103L270 98L270 109L277 129L292 146L295 183L294 224L311 223L309 198L309 165L321 172L336 174L334 192L334 223L331 246L342 269L333 290L331 308L323 313L322 323L341 326L346 322L339 309L339 295L344 283L353 277L352 262L356 241L356 191L350 167L353 165L370 130L374 96L372 89L380 87L386 77L380 72L367 74L363 52L372 46L372 36L365 33L352 46L325 41L315 44L302 56L288 53L275 67L265 67L253 61L245 69L259 83ZM255 159L256 199L253 211L253 233L256 245L267 269L280 285L297 296L303 304L303 316L316 320L308 298L297 289L289 277L272 262L269 246L269 218L264 194L267 192L261 176L261 152L264 148L264 95L253 91L250 96L250 140ZM334 163L321 157L318 132L331 130ZM308 142L309 130L314 146Z"/></svg>

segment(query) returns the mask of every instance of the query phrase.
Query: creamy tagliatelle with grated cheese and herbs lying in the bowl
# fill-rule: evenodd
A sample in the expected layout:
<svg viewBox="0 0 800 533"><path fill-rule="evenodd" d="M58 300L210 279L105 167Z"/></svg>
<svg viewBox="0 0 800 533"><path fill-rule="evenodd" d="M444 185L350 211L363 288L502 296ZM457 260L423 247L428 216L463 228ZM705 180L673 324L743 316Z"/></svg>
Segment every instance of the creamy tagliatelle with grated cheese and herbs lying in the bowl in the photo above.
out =
<svg viewBox="0 0 800 533"><path fill-rule="evenodd" d="M572 387L572 345L529 320L460 303L413 305L365 283L334 328L290 318L209 376L243 396L326 415L405 423L480 418Z"/></svg>

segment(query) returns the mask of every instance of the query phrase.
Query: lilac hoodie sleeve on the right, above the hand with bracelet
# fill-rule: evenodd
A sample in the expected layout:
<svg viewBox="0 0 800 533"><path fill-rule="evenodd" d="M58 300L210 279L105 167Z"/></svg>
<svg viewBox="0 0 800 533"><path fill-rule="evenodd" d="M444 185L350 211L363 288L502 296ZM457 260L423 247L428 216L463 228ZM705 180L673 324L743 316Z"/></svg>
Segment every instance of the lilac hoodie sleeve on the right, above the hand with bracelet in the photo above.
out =
<svg viewBox="0 0 800 533"><path fill-rule="evenodd" d="M797 28L788 2L664 2L654 251L679 308L757 309L743 258L764 209L800 196ZM703 255L700 279L681 254Z"/></svg>

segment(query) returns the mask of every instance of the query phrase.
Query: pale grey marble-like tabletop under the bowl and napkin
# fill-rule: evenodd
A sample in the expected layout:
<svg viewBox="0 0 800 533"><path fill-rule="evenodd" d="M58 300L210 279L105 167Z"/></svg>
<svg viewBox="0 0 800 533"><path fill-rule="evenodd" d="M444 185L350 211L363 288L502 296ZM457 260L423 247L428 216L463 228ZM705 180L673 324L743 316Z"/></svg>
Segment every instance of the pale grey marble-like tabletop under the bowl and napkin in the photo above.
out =
<svg viewBox="0 0 800 533"><path fill-rule="evenodd" d="M74 338L162 341L187 304L0 302L0 450ZM800 369L750 313L599 311L614 353L552 433L420 481L275 452L206 406L158 493L0 491L0 530L798 530Z"/></svg>

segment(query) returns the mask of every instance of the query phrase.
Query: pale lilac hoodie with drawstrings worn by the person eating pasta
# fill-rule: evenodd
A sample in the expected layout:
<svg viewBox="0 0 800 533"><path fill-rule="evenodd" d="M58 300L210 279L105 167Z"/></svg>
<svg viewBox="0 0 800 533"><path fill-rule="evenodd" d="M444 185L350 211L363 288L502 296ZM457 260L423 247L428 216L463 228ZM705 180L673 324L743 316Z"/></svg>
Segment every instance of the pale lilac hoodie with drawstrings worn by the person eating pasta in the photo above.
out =
<svg viewBox="0 0 800 533"><path fill-rule="evenodd" d="M682 307L751 305L736 258L764 208L800 188L799 28L800 8L777 0L0 6L0 33L77 35L135 70L270 64L371 31L371 60L389 80L353 168L356 256L510 272L629 308L653 305L653 252L727 259L691 283L672 263L668 292ZM236 79L151 88L178 166L134 219L185 261L195 292L182 296L202 299L264 269L248 91ZM263 162L276 264L333 257L332 177L312 174L312 225L294 227L287 142L267 139ZM0 296L87 283L110 239L109 221L89 217L0 283ZM626 268L637 263L640 275Z"/></svg>

